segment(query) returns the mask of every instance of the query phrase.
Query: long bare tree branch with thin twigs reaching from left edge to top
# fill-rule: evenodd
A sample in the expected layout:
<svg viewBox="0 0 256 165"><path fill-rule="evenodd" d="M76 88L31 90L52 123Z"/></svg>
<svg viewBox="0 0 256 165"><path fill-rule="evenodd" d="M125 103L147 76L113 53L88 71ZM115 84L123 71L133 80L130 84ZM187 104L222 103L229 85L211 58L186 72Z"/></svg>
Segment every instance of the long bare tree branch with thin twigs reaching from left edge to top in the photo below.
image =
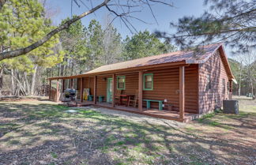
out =
<svg viewBox="0 0 256 165"><path fill-rule="evenodd" d="M1 4L4 4L6 0L0 0L0 2ZM75 4L79 7L83 5L86 8L88 8L88 6L86 6L82 0L71 0L71 4L73 4L73 2L75 2ZM91 2L91 6L92 6L92 0L90 0L89 2ZM36 43L32 43L28 47L20 48L13 51L0 52L0 61L6 58L13 58L13 57L20 56L22 54L27 54L28 52L43 45L43 43L46 43L47 40L51 39L51 37L57 34L58 32L62 31L63 29L69 28L70 24L73 24L74 22L80 20L82 17L85 17L91 13L95 13L97 9L100 9L103 6L105 6L110 13L114 14L115 17L119 17L120 21L122 21L122 23L126 25L126 28L128 28L131 33L137 32L137 29L134 27L134 24L132 24L130 20L135 19L143 23L146 23L146 21L142 21L141 19L135 17L133 13L141 12L145 6L149 7L152 13L151 6L156 3L160 3L161 5L172 6L167 2L168 0L126 0L126 1L125 0L123 1L122 0L103 0L103 2L100 5L96 7L92 7L92 9L89 9L87 12L82 13L77 17L73 17L70 21L66 21L64 24L59 25L57 28L49 32L47 36L44 36L43 39L38 40ZM71 6L71 9L72 9L72 6ZM156 17L154 13L152 13L152 17L154 17L156 21Z"/></svg>

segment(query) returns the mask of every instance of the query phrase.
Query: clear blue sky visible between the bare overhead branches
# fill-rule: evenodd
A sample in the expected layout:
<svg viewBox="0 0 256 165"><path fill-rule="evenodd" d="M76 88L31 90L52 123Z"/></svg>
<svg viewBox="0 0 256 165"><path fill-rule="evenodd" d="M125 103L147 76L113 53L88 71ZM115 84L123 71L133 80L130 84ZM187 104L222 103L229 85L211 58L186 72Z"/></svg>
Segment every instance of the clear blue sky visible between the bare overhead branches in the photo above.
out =
<svg viewBox="0 0 256 165"><path fill-rule="evenodd" d="M79 0L77 0L79 2ZM88 7L91 6L88 0L81 0L85 2L85 5ZM102 0L92 0L94 2L93 5L100 4ZM137 31L145 31L149 32L161 31L173 33L175 32L175 28L170 27L170 22L177 22L179 18L184 16L201 16L202 13L207 8L207 6L203 5L204 0L170 0L173 6L164 6L164 5L154 5L152 6L152 11L156 16L156 21L154 17L152 17L152 13L148 7L142 9L140 13L136 13L135 17L140 18L143 21L146 21L150 24L142 23L141 21L136 21L135 19L131 20L131 23L137 29ZM73 3L72 13L79 15L84 13L88 9L80 3L80 7ZM51 17L51 20L55 25L58 25L63 19L71 16L71 0L49 0L48 6L51 6L52 9L57 10L56 14ZM87 26L88 23L92 19L96 19L96 21L100 21L100 24L104 24L104 20L108 15L108 11L106 8L102 8L96 11L96 13L92 13L81 19L82 23ZM126 36L132 36L133 34L130 32L129 28L126 28L125 24L123 24L120 19L116 19L113 22L115 28L118 29L119 33L122 36L122 39L126 38ZM230 54L230 50L226 47L226 53ZM229 55L228 55L229 56Z"/></svg>

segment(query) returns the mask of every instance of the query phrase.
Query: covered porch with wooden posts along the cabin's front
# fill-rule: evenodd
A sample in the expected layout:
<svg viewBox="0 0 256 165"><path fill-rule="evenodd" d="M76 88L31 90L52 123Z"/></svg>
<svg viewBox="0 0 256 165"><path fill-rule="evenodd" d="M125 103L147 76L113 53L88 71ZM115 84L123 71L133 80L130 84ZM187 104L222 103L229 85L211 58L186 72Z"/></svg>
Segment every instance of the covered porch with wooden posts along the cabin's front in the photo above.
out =
<svg viewBox="0 0 256 165"><path fill-rule="evenodd" d="M185 78L185 70L188 75L187 80ZM77 98L73 103L75 106L93 105L119 111L129 111L136 114L145 114L156 118L187 122L198 116L196 111L186 111L185 109L185 81L191 81L190 75L191 73L194 73L195 70L197 70L197 66L181 65L178 67L157 67L156 69L152 68L150 70L141 69L98 75L53 77L49 79L50 86L52 81L56 81L56 89L55 93L50 93L49 98L54 101L64 101L62 95L65 89L75 88L77 89ZM152 84L154 84L152 90L147 90L145 88L145 75L149 74L152 74L154 77L154 81L152 81ZM119 77L126 77L124 85L119 84ZM110 80L112 83L110 83ZM187 84L187 92L192 93L190 87L191 83ZM88 98L85 99L85 88L88 88L90 91L90 96L92 96L90 100ZM110 90L111 94L109 94ZM127 104L120 105L116 103L116 96L120 94L120 90L122 90L123 95L126 96L137 95L137 103L135 103L135 106ZM137 94L135 94L135 92L137 92ZM159 110L160 104L153 102L150 107L147 107L145 99L161 100L163 102L163 110ZM188 103L186 106L188 109L191 109L190 100L190 96L188 96ZM198 102L197 99L194 103L196 104L196 102ZM168 105L170 104L172 105L171 110L168 109ZM196 109L198 106L196 105L194 107L194 109Z"/></svg>

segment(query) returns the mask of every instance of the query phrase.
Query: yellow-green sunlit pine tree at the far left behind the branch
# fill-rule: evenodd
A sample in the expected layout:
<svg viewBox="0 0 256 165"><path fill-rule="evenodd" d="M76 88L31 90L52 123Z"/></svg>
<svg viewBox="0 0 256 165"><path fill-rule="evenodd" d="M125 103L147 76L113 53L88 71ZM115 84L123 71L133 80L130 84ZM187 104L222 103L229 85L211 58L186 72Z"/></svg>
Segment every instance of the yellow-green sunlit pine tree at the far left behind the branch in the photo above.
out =
<svg viewBox="0 0 256 165"><path fill-rule="evenodd" d="M9 0L0 13L1 51L26 47L51 32L52 28L51 21L43 17L43 6L40 2ZM28 79L32 78L31 74L36 73L38 67L51 67L62 61L62 51L55 47L57 43L58 36L54 36L28 55L0 62L1 68L5 68L6 72L9 71L15 77L14 81L17 81L16 84L24 95L33 94L31 92L34 91L35 80Z"/></svg>

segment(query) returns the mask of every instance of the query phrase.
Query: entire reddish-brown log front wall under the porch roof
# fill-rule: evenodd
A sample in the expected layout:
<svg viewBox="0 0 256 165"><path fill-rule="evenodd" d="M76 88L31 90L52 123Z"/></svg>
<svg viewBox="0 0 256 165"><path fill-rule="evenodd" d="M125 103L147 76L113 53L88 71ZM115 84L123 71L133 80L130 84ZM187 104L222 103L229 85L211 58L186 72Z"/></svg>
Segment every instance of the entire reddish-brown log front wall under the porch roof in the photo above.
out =
<svg viewBox="0 0 256 165"><path fill-rule="evenodd" d="M170 69L159 69L145 71L144 73L153 73L153 90L143 91L143 99L167 99L164 103L164 110L168 110L167 104L173 105L174 111L179 111L179 67ZM116 76L126 76L126 89L123 94L133 95L138 89L138 72L118 73ZM107 99L107 78L111 74L97 76L97 95L104 96ZM106 81L105 79L106 78ZM79 82L80 83L80 82ZM115 79L115 86L117 80ZM185 112L198 113L198 65L185 67ZM94 77L83 78L83 88L90 88L91 95L94 93ZM78 85L80 88L80 85ZM78 89L79 91L79 89ZM151 103L152 108L158 109L158 103ZM143 102L143 107L146 103Z"/></svg>

